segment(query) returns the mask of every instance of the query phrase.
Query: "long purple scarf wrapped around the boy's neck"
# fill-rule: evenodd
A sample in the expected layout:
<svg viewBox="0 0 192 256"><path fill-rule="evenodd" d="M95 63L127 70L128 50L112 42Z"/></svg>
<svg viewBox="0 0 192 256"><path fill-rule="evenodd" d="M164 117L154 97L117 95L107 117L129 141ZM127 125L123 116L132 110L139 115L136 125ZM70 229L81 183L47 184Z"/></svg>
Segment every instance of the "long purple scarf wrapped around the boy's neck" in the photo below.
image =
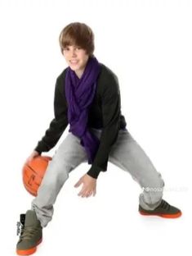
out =
<svg viewBox="0 0 192 256"><path fill-rule="evenodd" d="M85 148L88 164L96 156L100 140L87 127L88 111L96 93L96 79L100 74L100 63L89 57L82 77L79 79L70 67L65 76L65 95L68 103L69 131L78 136Z"/></svg>

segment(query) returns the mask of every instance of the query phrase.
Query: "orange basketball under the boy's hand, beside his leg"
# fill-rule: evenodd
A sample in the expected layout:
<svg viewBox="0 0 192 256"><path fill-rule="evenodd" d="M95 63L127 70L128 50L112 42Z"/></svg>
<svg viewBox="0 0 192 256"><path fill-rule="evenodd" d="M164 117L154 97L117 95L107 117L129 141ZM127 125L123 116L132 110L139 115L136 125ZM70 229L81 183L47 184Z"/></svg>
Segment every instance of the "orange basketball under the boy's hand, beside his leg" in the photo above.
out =
<svg viewBox="0 0 192 256"><path fill-rule="evenodd" d="M38 194L38 187L42 183L42 178L47 170L48 162L51 159L52 158L48 156L35 157L25 163L22 169L25 189L33 196L37 196Z"/></svg>

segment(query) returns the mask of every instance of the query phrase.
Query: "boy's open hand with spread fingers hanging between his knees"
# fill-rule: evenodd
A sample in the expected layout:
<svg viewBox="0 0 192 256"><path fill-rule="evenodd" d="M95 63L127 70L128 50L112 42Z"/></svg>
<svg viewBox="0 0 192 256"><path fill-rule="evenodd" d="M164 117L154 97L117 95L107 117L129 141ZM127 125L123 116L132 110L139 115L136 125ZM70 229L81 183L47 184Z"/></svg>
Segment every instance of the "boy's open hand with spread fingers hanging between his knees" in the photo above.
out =
<svg viewBox="0 0 192 256"><path fill-rule="evenodd" d="M92 193L93 193L93 196L96 195L96 179L85 174L79 179L79 181L74 185L74 187L77 188L82 183L83 183L83 188L78 193L78 195L81 195L83 198L91 196Z"/></svg>

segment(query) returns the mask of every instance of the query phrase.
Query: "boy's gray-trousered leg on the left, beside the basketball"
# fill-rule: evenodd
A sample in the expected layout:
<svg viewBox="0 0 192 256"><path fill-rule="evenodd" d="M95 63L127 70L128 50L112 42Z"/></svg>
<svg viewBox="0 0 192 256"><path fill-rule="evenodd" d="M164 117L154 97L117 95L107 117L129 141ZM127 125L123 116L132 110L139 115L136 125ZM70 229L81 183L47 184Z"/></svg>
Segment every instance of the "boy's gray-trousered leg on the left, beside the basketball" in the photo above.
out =
<svg viewBox="0 0 192 256"><path fill-rule="evenodd" d="M38 188L38 195L32 201L32 209L43 227L51 221L53 204L68 179L69 172L86 159L87 155L80 139L69 133L49 162L42 184Z"/></svg>

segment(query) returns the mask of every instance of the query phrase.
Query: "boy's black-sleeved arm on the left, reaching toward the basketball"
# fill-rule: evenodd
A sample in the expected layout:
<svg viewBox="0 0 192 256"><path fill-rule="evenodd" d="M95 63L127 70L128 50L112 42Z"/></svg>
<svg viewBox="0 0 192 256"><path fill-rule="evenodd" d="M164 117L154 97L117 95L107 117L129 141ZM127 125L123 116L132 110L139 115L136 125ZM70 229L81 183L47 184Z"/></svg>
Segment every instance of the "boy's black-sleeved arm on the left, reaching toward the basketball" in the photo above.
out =
<svg viewBox="0 0 192 256"><path fill-rule="evenodd" d="M68 126L67 105L64 95L62 95L62 82L56 80L55 97L54 97L54 115L45 135L38 141L38 145L34 149L38 153L47 152L52 149L64 130Z"/></svg>

